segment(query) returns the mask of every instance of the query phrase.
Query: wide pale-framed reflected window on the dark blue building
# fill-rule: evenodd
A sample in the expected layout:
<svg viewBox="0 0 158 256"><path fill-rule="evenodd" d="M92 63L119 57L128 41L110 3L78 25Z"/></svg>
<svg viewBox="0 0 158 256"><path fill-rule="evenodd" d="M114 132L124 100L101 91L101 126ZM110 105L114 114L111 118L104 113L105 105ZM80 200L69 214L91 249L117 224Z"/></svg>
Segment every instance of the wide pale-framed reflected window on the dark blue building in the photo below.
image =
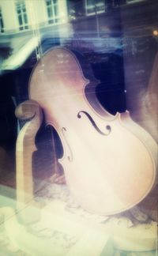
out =
<svg viewBox="0 0 158 256"><path fill-rule="evenodd" d="M86 14L103 13L105 11L105 0L85 0Z"/></svg>

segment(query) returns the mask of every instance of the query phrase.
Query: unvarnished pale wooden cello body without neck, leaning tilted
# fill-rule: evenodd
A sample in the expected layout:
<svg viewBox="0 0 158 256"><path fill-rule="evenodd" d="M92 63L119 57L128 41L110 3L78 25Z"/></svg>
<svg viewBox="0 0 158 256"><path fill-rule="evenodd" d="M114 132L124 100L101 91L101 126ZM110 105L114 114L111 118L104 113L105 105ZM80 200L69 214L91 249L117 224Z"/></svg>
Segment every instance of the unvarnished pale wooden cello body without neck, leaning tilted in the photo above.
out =
<svg viewBox="0 0 158 256"><path fill-rule="evenodd" d="M57 47L32 71L29 97L43 107L62 141L58 161L73 198L91 213L112 215L152 190L157 145L128 111L111 115L101 107L97 83L85 78L72 51Z"/></svg>

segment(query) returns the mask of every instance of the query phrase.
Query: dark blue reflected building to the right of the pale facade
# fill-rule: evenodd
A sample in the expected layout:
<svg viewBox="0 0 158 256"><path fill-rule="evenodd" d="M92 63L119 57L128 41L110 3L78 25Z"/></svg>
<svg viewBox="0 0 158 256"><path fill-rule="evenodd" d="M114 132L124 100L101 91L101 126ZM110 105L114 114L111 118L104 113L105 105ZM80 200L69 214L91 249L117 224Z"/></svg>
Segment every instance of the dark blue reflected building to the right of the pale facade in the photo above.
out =
<svg viewBox="0 0 158 256"><path fill-rule="evenodd" d="M114 36L121 27L126 32L138 28L137 35L140 31L152 34L153 28L157 29L158 3L155 0L82 0L75 4L69 1L68 5L73 29L77 32L92 31L93 34L99 32L97 36L109 36L107 31L111 30Z"/></svg>

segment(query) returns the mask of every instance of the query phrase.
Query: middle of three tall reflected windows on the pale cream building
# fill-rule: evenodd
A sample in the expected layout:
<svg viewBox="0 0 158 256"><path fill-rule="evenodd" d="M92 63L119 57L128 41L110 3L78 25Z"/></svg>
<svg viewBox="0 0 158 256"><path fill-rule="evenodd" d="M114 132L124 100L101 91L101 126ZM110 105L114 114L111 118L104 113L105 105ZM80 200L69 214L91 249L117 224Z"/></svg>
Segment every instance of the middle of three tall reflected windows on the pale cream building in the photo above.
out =
<svg viewBox="0 0 158 256"><path fill-rule="evenodd" d="M16 1L17 19L19 22L19 30L28 29L28 15L24 0Z"/></svg>

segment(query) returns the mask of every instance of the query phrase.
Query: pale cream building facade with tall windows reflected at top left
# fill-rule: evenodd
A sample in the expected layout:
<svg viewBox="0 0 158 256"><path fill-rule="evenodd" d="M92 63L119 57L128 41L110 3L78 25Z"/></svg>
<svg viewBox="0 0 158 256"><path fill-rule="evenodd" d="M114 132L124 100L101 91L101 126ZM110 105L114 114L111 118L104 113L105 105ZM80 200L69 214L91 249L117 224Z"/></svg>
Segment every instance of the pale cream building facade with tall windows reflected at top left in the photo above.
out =
<svg viewBox="0 0 158 256"><path fill-rule="evenodd" d="M6 0L1 6L1 28L11 34L49 24L63 24L67 21L66 1L24 1Z"/></svg>

